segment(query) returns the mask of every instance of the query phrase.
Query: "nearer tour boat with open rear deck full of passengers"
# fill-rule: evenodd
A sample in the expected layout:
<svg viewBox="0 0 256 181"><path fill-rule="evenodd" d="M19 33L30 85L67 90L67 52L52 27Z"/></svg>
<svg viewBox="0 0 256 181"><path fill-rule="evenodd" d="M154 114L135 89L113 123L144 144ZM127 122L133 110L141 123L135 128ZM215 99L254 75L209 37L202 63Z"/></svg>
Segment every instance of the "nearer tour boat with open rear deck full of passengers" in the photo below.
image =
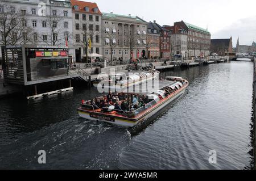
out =
<svg viewBox="0 0 256 181"><path fill-rule="evenodd" d="M189 85L188 81L181 77L166 77L163 82L162 89L150 94L118 93L122 98L129 96L133 98L134 95L143 96L144 106L137 108L137 110L135 108L130 111L115 110L114 106L94 110L94 106L89 104L90 102L82 101L81 107L77 108L77 111L80 117L88 120L104 121L122 127L134 127L158 115L166 106L183 95ZM98 99L104 99L104 96Z"/></svg>

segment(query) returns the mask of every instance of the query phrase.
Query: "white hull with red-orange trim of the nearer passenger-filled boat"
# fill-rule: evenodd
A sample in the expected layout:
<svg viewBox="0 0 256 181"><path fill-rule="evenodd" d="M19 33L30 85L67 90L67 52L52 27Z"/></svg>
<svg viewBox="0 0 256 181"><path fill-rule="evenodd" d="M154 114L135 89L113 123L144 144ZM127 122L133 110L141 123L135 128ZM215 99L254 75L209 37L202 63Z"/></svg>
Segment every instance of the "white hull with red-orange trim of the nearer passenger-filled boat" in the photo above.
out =
<svg viewBox="0 0 256 181"><path fill-rule="evenodd" d="M163 103L159 104L157 107L155 107L154 110L145 113L142 117L139 117L139 119L137 119L137 120L127 120L127 119L122 119L119 117L113 117L111 120L108 120L109 119L108 116L103 116L103 117L98 116L96 118L93 113L84 112L82 110L78 110L78 113L79 113L80 117L83 117L88 120L102 121L105 123L110 123L110 124L118 125L121 127L134 127L135 125L137 125L139 123L143 123L144 121L150 120L150 118L153 116L155 117L155 115L159 115L162 112L162 110L164 109L164 107L170 105L172 102L174 102L176 99L178 99L181 95L183 95L185 90L186 89L183 89L180 92L177 92L177 94L171 96L165 102L163 102Z"/></svg>

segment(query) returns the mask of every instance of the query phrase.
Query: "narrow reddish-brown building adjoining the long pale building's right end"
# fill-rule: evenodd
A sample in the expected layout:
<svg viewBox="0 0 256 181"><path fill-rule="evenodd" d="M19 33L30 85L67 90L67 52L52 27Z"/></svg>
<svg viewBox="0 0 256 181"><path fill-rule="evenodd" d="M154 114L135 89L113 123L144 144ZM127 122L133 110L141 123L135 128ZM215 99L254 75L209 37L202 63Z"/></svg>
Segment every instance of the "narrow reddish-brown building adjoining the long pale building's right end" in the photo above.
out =
<svg viewBox="0 0 256 181"><path fill-rule="evenodd" d="M148 58L160 57L160 31L156 23L149 22L147 26Z"/></svg>

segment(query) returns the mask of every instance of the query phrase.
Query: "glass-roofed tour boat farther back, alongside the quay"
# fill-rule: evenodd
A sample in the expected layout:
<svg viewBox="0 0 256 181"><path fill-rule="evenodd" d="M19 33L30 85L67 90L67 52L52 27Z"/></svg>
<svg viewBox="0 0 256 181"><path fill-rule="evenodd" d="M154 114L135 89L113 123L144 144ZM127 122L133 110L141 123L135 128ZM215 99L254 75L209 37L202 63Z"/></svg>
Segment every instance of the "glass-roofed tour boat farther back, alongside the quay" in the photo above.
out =
<svg viewBox="0 0 256 181"><path fill-rule="evenodd" d="M141 73L132 75L126 75L124 73L118 73L116 75L107 75L98 78L93 82L94 87L117 89L121 91L127 87L139 85L143 82L151 81L152 79L158 79L159 71L155 69L146 69Z"/></svg>

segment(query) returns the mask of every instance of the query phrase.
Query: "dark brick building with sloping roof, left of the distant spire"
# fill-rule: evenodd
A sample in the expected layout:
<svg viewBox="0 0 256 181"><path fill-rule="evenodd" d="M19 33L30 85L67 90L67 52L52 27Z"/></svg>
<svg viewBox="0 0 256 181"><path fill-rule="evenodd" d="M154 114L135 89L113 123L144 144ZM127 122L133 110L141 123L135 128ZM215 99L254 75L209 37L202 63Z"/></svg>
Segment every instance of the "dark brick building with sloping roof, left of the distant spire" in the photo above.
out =
<svg viewBox="0 0 256 181"><path fill-rule="evenodd" d="M216 53L219 56L224 56L227 53L232 53L233 42L230 39L212 39L210 40L210 53Z"/></svg>

